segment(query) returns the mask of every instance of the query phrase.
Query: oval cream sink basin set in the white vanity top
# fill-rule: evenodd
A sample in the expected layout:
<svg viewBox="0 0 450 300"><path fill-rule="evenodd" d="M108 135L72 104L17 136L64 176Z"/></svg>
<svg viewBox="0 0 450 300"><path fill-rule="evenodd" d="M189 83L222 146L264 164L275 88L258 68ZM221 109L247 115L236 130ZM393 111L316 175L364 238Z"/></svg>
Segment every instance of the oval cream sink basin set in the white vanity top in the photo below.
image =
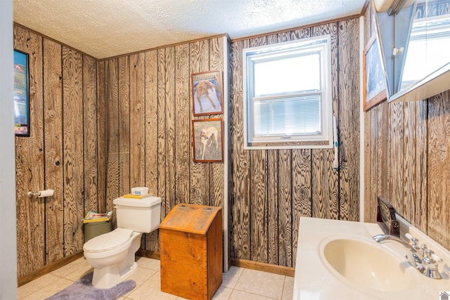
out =
<svg viewBox="0 0 450 300"><path fill-rule="evenodd" d="M375 242L347 237L324 240L321 256L336 276L356 287L393 292L411 285L406 259L399 260Z"/></svg>

